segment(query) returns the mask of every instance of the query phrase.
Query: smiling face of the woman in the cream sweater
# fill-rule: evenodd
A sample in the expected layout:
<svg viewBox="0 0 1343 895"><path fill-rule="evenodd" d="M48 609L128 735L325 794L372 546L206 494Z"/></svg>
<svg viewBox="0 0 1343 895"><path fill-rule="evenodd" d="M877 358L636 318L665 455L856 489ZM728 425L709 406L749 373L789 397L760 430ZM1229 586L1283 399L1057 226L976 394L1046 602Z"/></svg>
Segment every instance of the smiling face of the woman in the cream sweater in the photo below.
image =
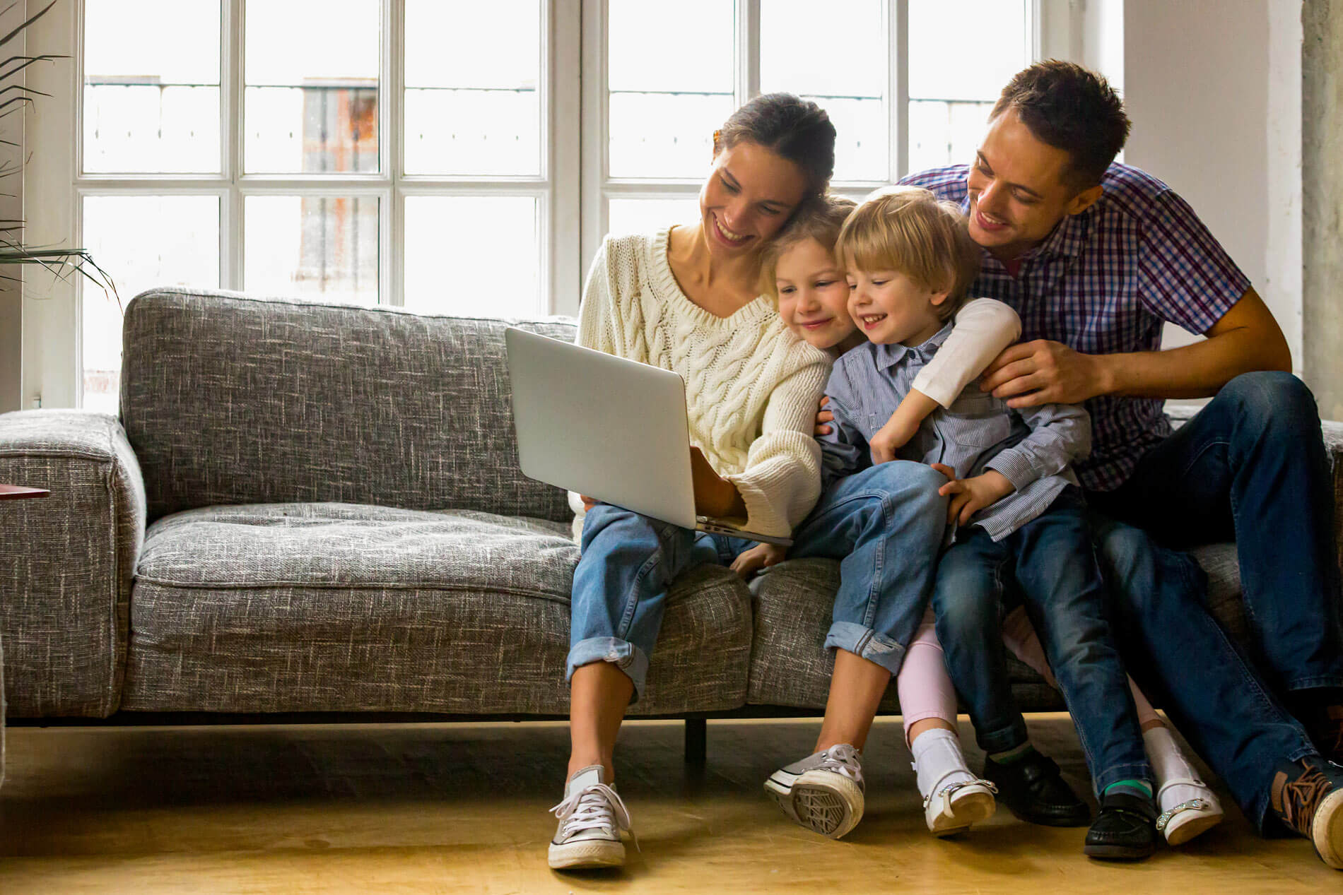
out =
<svg viewBox="0 0 1343 895"><path fill-rule="evenodd" d="M760 251L806 195L794 162L749 141L723 148L700 189L700 216L709 252L737 258Z"/></svg>

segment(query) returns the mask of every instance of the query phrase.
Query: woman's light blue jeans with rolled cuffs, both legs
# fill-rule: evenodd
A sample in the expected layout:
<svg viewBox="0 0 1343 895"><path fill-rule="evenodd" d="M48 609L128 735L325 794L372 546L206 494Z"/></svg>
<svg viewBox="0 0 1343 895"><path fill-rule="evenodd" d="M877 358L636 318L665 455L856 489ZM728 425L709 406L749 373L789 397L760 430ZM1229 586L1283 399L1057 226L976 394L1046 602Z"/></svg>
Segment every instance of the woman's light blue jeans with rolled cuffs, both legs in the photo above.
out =
<svg viewBox="0 0 1343 895"><path fill-rule="evenodd" d="M896 460L826 488L794 534L790 558L841 560L841 584L826 647L847 649L892 674L923 619L947 522L947 479ZM573 573L568 675L611 662L647 679L672 581L704 562L727 565L752 542L690 531L600 503L583 522Z"/></svg>

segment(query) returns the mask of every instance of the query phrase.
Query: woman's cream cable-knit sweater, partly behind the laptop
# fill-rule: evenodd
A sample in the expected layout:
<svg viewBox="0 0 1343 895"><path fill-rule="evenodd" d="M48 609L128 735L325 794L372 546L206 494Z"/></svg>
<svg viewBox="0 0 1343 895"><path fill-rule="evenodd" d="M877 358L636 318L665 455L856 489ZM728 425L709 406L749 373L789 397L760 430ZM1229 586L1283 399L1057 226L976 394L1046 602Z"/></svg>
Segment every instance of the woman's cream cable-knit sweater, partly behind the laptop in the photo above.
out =
<svg viewBox="0 0 1343 895"><path fill-rule="evenodd" d="M606 239L583 288L577 344L680 373L690 443L737 486L749 530L787 537L821 494L811 433L830 358L763 297L731 317L686 298L667 266L669 232ZM569 505L577 538L583 503L569 494Z"/></svg>

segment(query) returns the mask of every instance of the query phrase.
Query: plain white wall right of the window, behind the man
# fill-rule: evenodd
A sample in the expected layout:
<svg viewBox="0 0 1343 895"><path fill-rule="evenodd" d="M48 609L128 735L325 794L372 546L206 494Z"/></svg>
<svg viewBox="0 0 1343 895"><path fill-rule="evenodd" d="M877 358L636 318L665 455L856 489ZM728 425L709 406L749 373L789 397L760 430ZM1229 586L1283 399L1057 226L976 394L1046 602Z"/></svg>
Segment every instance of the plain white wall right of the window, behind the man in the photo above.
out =
<svg viewBox="0 0 1343 895"><path fill-rule="evenodd" d="M1124 0L1124 36L1125 161L1194 207L1300 373L1300 0ZM1167 345L1189 341L1167 327Z"/></svg>

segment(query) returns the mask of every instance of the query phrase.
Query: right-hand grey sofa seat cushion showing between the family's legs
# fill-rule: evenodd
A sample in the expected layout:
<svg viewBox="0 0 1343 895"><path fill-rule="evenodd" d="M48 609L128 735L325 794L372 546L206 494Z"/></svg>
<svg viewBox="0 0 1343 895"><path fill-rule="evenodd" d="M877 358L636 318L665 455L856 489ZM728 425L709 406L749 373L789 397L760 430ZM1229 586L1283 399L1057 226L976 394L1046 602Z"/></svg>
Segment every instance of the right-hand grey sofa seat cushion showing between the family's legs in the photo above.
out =
<svg viewBox="0 0 1343 895"><path fill-rule="evenodd" d="M1240 565L1234 543L1213 543L1193 551L1207 572L1207 607L1233 639L1246 643ZM790 560L752 581L755 645L747 702L761 706L825 708L834 655L825 649L830 609L839 586L833 560ZM1039 675L1015 656L1007 657L1013 692L1022 711L1060 711L1064 700ZM881 710L897 713L896 688L889 687Z"/></svg>

